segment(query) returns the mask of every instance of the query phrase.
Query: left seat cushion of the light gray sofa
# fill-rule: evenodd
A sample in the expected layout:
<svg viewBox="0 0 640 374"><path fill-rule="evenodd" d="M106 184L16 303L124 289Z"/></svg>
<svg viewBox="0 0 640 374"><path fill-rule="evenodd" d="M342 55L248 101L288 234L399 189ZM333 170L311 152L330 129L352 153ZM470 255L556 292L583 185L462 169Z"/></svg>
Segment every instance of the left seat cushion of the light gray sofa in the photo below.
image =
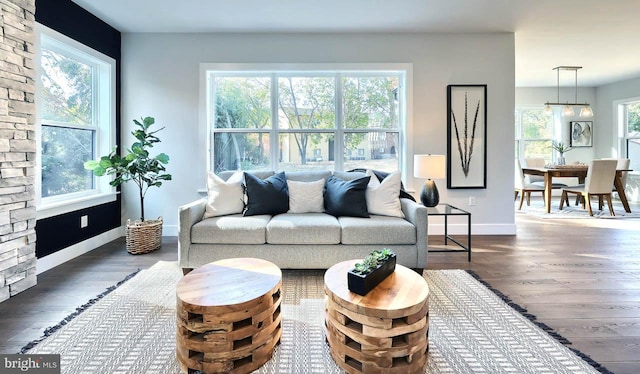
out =
<svg viewBox="0 0 640 374"><path fill-rule="evenodd" d="M202 220L191 228L191 242L200 244L264 244L271 216L234 214Z"/></svg>

